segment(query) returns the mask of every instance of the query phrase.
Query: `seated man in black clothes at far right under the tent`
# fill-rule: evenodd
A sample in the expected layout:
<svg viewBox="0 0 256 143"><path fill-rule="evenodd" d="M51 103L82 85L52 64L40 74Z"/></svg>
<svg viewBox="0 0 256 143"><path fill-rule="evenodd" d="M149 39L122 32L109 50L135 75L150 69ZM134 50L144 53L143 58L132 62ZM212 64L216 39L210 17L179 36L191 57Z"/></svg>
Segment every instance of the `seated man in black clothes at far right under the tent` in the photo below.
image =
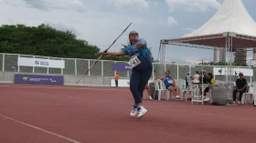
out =
<svg viewBox="0 0 256 143"><path fill-rule="evenodd" d="M243 74L240 73L239 74L239 78L236 80L236 89L233 91L233 103L238 103L240 104L240 100L241 100L241 96L243 93L246 92L247 89L247 81L246 79L243 77ZM237 93L240 92L240 98L237 101ZM237 102L236 102L237 101Z"/></svg>

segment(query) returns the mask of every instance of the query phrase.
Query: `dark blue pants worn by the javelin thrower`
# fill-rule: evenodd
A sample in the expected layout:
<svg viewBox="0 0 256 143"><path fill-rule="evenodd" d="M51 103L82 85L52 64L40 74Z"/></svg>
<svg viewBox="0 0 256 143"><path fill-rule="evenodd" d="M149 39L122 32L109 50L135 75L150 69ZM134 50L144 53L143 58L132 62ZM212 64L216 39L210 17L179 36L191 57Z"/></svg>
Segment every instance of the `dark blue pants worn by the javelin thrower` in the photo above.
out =
<svg viewBox="0 0 256 143"><path fill-rule="evenodd" d="M144 68L143 70L133 70L130 78L130 90L133 94L135 105L142 102L144 87L151 77L152 71L152 67Z"/></svg>

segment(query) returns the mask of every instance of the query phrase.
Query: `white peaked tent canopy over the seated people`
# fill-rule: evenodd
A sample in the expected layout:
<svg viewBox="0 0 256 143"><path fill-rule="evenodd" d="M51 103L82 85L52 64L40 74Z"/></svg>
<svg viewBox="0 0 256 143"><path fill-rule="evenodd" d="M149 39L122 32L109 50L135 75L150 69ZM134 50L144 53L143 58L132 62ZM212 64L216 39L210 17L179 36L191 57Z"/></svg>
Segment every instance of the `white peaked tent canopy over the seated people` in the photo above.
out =
<svg viewBox="0 0 256 143"><path fill-rule="evenodd" d="M177 46L225 47L232 37L232 48L256 47L256 23L241 0L225 0L218 12L197 30L174 39L162 39L161 44Z"/></svg>

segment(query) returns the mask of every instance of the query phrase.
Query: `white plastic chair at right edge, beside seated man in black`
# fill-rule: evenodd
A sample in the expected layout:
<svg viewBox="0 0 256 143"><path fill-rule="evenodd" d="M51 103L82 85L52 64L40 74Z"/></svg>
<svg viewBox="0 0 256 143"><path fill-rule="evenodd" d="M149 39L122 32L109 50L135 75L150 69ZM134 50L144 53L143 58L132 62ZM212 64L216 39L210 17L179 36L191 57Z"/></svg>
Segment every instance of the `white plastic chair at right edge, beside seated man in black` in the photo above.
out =
<svg viewBox="0 0 256 143"><path fill-rule="evenodd" d="M256 97L256 82L248 84L249 90L246 93L243 93L241 96L241 104L245 104L245 101L249 96L251 96L251 103L253 102L253 99ZM255 104L255 102L254 102Z"/></svg>

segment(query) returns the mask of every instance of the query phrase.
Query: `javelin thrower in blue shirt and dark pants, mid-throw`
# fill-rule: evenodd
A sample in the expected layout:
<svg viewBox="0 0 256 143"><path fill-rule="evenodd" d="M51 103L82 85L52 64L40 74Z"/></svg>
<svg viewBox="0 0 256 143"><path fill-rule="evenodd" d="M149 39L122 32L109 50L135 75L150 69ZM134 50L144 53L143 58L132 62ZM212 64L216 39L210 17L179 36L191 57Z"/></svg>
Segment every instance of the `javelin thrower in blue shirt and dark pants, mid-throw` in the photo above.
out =
<svg viewBox="0 0 256 143"><path fill-rule="evenodd" d="M143 106L143 93L147 81L153 71L152 56L143 38L139 38L136 31L129 34L130 44L125 46L120 52L105 52L104 55L110 56L130 56L129 63L133 66L130 78L130 90L133 94L134 105L130 113L132 117L138 114L138 118L144 117L147 109Z"/></svg>

